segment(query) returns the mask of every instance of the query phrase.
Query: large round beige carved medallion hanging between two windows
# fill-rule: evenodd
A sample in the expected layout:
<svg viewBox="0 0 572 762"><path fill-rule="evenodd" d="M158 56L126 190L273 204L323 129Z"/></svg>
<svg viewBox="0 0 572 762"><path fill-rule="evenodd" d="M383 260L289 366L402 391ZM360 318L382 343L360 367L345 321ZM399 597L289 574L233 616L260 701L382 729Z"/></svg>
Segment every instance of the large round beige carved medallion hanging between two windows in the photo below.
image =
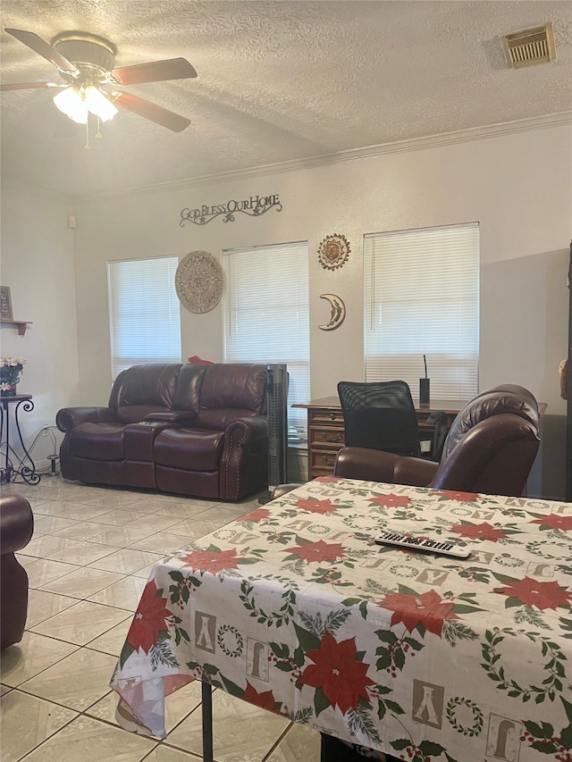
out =
<svg viewBox="0 0 572 762"><path fill-rule="evenodd" d="M209 252L191 251L177 267L175 289L189 312L209 312L223 296L223 268Z"/></svg>

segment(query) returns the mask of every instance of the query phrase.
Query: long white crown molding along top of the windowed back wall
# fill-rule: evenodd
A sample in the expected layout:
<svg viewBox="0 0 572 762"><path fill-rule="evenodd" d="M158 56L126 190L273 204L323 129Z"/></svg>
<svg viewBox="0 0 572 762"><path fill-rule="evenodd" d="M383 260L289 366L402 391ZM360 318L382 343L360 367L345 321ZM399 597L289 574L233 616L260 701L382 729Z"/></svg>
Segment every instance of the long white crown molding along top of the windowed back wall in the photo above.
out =
<svg viewBox="0 0 572 762"><path fill-rule="evenodd" d="M160 191L171 191L178 188L202 188L210 185L217 185L236 180L251 180L253 178L265 177L271 174L282 174L284 172L299 172L301 170L315 169L315 167L325 166L341 162L352 162L357 159L372 158L386 154L401 154L408 151L421 151L427 148L440 148L450 146L456 143L467 143L472 140L485 140L489 138L499 138L505 135L513 135L519 132L528 132L530 130L545 130L552 127L561 127L572 124L572 112L551 113L533 119L522 119L516 121L504 121L498 124L485 125L484 127L474 127L468 130L458 130L457 132L442 132L438 135L430 135L424 138L412 138L400 140L393 143L381 143L376 146L367 146L363 148L351 148L348 151L339 151L333 154L324 154L310 156L305 159L295 159L290 162L278 162L273 164L264 164L257 167L249 167L244 170L233 170L231 172L219 172L218 174L200 175L198 177L187 178L185 180L173 180L170 182L157 183L148 186L139 186L137 188L122 188L121 190L103 191L101 193L88 194L86 196L77 196L81 200L102 197L118 197L133 194L156 193Z"/></svg>

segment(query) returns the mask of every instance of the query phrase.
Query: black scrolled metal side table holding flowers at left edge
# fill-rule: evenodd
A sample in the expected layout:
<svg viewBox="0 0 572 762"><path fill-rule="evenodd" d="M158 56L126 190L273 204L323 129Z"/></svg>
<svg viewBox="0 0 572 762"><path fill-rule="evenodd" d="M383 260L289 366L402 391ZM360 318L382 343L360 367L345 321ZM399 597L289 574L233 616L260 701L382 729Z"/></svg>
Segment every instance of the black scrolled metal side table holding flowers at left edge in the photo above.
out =
<svg viewBox="0 0 572 762"><path fill-rule="evenodd" d="M23 455L20 456L10 443L10 407L13 407L14 425L20 440ZM21 481L27 484L38 484L39 473L36 473L36 465L29 455L21 435L19 413L20 408L29 413L34 409L31 394L15 394L13 397L0 397L0 483L4 481Z"/></svg>

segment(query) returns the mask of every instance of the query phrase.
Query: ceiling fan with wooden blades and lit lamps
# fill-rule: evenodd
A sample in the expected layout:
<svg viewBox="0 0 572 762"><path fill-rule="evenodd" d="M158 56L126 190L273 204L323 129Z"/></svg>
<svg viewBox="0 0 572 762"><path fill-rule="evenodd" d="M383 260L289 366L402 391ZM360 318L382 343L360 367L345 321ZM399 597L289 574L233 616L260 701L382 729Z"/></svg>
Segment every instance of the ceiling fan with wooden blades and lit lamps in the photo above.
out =
<svg viewBox="0 0 572 762"><path fill-rule="evenodd" d="M139 85L164 80L187 80L197 71L184 58L136 63L114 69L115 46L105 38L86 32L63 32L52 44L34 32L5 29L13 38L53 63L62 82L16 82L0 85L0 90L57 88L57 108L80 124L88 123L89 113L101 121L113 119L117 106L155 121L174 132L189 127L190 120L139 96L115 90L125 85Z"/></svg>

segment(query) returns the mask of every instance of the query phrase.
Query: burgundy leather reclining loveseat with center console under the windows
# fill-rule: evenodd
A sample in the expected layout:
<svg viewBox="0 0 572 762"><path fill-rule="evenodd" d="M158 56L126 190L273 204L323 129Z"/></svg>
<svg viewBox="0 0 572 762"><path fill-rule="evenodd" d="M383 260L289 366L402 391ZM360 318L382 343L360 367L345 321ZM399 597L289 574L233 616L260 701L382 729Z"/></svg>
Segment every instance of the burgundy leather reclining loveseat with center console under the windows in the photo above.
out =
<svg viewBox="0 0 572 762"><path fill-rule="evenodd" d="M237 500L267 483L263 364L147 364L56 416L65 479Z"/></svg>

